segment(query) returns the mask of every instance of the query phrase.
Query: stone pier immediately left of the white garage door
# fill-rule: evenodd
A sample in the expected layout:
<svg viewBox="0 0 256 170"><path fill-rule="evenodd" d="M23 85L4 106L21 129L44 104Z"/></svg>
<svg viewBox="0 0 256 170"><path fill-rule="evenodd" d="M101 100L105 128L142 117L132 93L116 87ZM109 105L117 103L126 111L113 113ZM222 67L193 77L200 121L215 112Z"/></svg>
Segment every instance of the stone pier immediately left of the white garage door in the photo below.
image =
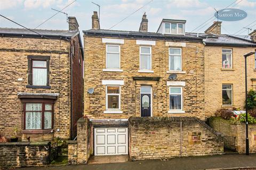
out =
<svg viewBox="0 0 256 170"><path fill-rule="evenodd" d="M68 141L68 163L86 164L91 153L91 124L88 118L81 117L77 121L77 141Z"/></svg>

